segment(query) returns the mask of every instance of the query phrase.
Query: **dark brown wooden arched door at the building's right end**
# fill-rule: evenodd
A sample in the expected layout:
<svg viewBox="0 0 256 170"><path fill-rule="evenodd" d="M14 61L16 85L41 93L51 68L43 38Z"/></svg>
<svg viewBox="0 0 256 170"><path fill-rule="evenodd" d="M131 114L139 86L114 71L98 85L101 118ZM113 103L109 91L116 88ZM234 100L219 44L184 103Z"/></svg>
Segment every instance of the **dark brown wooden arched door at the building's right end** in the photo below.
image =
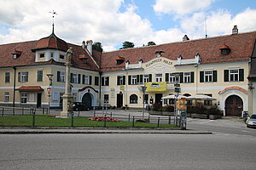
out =
<svg viewBox="0 0 256 170"><path fill-rule="evenodd" d="M241 116L243 111L242 99L237 95L230 95L225 101L226 116Z"/></svg>

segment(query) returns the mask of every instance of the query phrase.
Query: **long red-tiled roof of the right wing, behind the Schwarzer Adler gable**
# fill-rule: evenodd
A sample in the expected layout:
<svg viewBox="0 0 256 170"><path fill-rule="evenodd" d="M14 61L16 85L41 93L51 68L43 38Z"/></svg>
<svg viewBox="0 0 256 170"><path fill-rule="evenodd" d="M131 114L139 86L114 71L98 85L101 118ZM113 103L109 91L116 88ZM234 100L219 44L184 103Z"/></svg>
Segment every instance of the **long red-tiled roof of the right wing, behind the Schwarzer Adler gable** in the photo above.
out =
<svg viewBox="0 0 256 170"><path fill-rule="evenodd" d="M112 52L102 53L102 71L119 71L125 68L125 63L116 65L115 59L119 56L138 63L139 59L148 62L154 59L156 51L164 51L166 58L177 59L181 54L183 59L191 59L199 53L201 63L218 63L229 61L248 60L253 53L253 44L256 31L233 34L221 37L210 37L185 42L172 42L142 48L125 48ZM231 49L230 54L221 54L219 48L223 46Z"/></svg>

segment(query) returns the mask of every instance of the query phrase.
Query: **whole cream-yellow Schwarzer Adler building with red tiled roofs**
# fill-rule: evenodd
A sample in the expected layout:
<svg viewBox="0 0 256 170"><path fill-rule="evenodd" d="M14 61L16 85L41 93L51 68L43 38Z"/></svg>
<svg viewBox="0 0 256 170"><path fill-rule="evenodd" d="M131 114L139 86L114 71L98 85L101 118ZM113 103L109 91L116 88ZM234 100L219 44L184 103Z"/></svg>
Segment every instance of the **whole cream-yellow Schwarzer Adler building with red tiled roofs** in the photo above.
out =
<svg viewBox="0 0 256 170"><path fill-rule="evenodd" d="M252 114L255 39L256 31L233 31L227 36L183 38L182 42L101 53L92 49L92 41L79 46L53 32L38 41L3 44L0 105L46 107L49 102L52 108L61 107L65 54L72 47L73 101L91 107L143 108L145 86L144 104L172 105L172 100L161 98L175 94L174 84L179 84L179 94L217 99L204 103L218 105L225 116L241 116L243 111ZM54 75L52 84L47 74Z"/></svg>

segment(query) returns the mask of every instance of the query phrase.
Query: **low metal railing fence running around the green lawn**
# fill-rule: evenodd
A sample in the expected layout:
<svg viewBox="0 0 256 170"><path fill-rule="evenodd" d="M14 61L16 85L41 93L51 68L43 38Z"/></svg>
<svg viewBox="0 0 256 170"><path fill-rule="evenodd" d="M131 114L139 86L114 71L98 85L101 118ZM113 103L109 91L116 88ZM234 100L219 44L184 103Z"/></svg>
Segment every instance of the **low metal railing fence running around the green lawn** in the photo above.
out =
<svg viewBox="0 0 256 170"><path fill-rule="evenodd" d="M73 112L72 116L48 115L46 109L0 107L0 127L166 127L180 125L179 117L175 116L135 116L132 114L117 114L112 112L90 111ZM9 121L9 117L13 120ZM88 119L98 119L88 121ZM114 122L119 120L120 122ZM125 122L125 123L123 123ZM143 123L146 122L146 123Z"/></svg>

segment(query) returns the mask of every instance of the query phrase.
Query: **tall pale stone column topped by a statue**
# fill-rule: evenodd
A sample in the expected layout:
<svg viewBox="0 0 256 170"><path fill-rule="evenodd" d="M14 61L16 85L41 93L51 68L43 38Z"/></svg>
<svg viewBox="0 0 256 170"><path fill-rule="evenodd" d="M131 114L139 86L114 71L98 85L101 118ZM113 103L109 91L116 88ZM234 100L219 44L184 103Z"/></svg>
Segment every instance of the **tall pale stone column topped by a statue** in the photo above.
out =
<svg viewBox="0 0 256 170"><path fill-rule="evenodd" d="M66 59L66 85L65 85L65 94L63 94L63 106L61 111L61 116L71 116L72 111L72 94L70 94L70 66L71 59L73 57L73 50L69 48L67 54L65 55Z"/></svg>

